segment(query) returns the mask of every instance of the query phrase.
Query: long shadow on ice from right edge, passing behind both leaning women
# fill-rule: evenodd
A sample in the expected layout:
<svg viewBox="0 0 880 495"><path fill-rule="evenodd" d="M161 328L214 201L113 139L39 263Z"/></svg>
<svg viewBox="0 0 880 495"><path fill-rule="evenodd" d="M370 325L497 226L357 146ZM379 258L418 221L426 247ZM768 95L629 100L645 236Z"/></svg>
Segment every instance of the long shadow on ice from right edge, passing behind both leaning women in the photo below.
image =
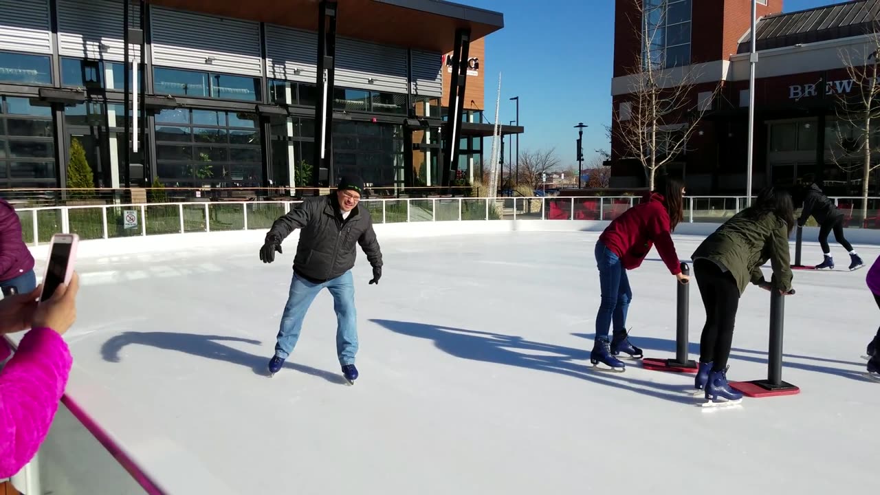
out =
<svg viewBox="0 0 880 495"><path fill-rule="evenodd" d="M593 340L593 336L595 334L572 334L573 336L582 337L585 339ZM699 338L699 334L698 334ZM674 358L675 357L675 339L665 339L665 338L656 338L651 336L639 336L633 337L633 344L638 345L642 348L643 351L657 351L657 356L646 356L648 358ZM697 359L700 356L700 344L699 343L689 343L687 346L687 352L690 354L691 358ZM668 354L668 356L666 355ZM739 361L747 361L750 363L759 363L759 364L767 364L767 358L759 358L757 356L748 356L746 354L764 354L766 355L766 351L753 351L752 349L742 349L739 347L733 347L730 349L730 359L736 359ZM859 366L862 368L862 371L850 371L846 369L841 369L838 367L832 366L821 366L821 365L812 365L807 363L799 363L797 361L792 361L792 359L803 359L816 361L820 363L832 363L835 365L851 365L851 366ZM831 359L831 358L816 358L813 356L802 356L800 354L782 354L782 367L784 368L795 368L799 370L810 371L814 373L825 373L831 374L834 376L840 376L842 378L847 378L851 380L862 380L862 381L870 381L868 377L864 375L865 366L867 363L862 361L861 363L856 363L854 361L841 361L839 359Z"/></svg>

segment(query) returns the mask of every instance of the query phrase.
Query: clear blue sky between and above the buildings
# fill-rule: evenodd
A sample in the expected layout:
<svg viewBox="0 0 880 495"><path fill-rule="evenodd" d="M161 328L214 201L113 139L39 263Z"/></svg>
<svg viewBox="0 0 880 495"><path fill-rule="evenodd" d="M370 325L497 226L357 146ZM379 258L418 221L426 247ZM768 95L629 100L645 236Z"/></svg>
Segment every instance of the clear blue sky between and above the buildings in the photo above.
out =
<svg viewBox="0 0 880 495"><path fill-rule="evenodd" d="M504 28L488 36L486 60L480 61L489 121L495 122L500 71L499 120L514 120L516 102L508 99L518 95L519 122L525 127L521 152L555 147L563 165L576 164L577 122L590 126L584 129L586 161L595 156L593 150L608 149L604 125L611 122L613 0L457 1L504 14ZM841 1L784 0L784 11Z"/></svg>

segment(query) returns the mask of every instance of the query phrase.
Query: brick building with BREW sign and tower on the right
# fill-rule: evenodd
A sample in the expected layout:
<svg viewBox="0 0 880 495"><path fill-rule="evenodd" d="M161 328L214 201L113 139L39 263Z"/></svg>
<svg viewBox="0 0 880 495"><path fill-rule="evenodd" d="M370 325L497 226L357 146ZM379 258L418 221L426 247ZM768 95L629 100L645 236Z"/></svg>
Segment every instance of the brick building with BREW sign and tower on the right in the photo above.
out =
<svg viewBox="0 0 880 495"><path fill-rule="evenodd" d="M617 0L612 158L606 162L612 167L612 187L645 184L641 162L627 157L615 131L627 118L621 108L634 100L639 70L632 68L651 61L667 85L680 85L690 75L688 110L691 115L693 110L705 112L695 124L682 117L682 126L695 127L686 150L671 159L668 171L683 175L691 194L744 193L751 5L751 0ZM843 55L864 63L873 60L865 54L880 25L880 2L850 0L787 13L782 9L782 0L758 2L752 186L790 184L817 174L830 193L860 195L862 171L846 166L858 158L840 158L847 155L840 136L854 136L853 131L836 115L839 96L857 88ZM656 37L643 50L642 33L649 32ZM649 55L642 57L642 52ZM818 91L823 87L825 91Z"/></svg>

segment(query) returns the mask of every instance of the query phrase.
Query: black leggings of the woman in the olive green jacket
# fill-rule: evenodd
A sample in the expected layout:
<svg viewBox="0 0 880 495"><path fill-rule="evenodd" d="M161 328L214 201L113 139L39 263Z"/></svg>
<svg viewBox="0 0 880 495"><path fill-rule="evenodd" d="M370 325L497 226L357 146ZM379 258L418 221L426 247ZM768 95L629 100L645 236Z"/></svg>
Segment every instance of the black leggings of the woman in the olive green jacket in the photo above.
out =
<svg viewBox="0 0 880 495"><path fill-rule="evenodd" d="M706 325L700 336L700 362L713 363L713 371L722 371L730 358L733 325L739 307L739 288L733 275L723 272L715 262L695 260L693 275L706 307Z"/></svg>

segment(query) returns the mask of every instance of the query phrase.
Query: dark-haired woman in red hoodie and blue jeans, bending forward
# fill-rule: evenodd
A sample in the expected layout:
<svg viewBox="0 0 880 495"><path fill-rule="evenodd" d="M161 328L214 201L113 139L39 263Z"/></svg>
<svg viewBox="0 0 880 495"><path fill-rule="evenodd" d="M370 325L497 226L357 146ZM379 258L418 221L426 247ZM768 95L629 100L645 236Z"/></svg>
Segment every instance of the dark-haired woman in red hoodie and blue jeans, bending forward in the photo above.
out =
<svg viewBox="0 0 880 495"><path fill-rule="evenodd" d="M605 232L599 236L596 264L602 302L596 315L596 337L590 353L593 366L601 362L615 371L624 371L626 366L614 357L621 351L630 357L642 358L642 350L627 338L627 309L633 299L627 270L638 268L651 246L656 244L657 252L670 273L679 282L687 282L688 277L679 268L678 254L671 237L671 232L684 216L684 194L685 187L680 181L658 177L654 191L642 198L641 203L612 220L611 225L605 227ZM612 322L614 333L609 343L608 328Z"/></svg>

